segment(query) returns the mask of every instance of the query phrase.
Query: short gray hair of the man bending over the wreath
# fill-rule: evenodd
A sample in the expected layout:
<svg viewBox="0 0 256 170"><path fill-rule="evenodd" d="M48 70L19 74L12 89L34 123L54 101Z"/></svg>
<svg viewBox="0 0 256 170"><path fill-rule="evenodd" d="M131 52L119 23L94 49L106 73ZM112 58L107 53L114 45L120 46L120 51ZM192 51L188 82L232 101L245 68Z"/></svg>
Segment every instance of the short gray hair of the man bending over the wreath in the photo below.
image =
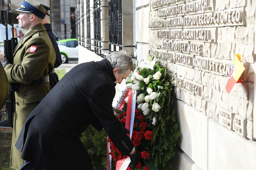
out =
<svg viewBox="0 0 256 170"><path fill-rule="evenodd" d="M125 50L114 51L107 55L106 58L110 62L112 69L119 68L118 74L125 74L129 69L134 70L132 58Z"/></svg>

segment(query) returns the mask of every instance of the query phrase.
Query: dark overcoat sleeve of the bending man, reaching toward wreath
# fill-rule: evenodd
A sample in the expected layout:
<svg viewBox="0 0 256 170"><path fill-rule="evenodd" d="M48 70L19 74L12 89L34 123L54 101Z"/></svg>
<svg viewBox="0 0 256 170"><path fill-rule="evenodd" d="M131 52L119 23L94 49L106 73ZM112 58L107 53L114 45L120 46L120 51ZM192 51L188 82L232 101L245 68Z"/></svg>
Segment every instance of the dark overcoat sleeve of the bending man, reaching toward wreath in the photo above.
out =
<svg viewBox="0 0 256 170"><path fill-rule="evenodd" d="M129 155L134 145L113 113L112 101L114 96L113 83L104 83L91 94L88 104L120 153Z"/></svg>

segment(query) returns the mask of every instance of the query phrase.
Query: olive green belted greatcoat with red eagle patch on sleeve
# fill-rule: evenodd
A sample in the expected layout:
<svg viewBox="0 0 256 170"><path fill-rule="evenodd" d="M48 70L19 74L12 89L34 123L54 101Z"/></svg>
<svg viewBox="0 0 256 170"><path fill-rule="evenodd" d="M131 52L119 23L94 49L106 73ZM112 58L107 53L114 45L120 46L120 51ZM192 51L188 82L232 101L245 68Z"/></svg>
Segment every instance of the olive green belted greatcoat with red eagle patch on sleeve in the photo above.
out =
<svg viewBox="0 0 256 170"><path fill-rule="evenodd" d="M32 46L32 47L31 47ZM55 63L54 47L43 24L29 30L15 48L13 65L4 67L9 82L30 84L40 77L47 77ZM14 117L11 162L12 169L19 169L24 161L20 152L14 147L24 121L30 112L50 91L49 83L37 85L20 85L15 92L16 109Z"/></svg>

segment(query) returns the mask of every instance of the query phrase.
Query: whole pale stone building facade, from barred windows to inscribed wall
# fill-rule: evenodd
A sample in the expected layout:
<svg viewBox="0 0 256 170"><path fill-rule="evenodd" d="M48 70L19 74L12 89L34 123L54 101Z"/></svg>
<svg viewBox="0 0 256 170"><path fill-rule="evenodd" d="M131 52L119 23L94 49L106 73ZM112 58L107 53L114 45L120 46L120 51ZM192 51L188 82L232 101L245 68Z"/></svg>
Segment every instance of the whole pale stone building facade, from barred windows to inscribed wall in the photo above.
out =
<svg viewBox="0 0 256 170"><path fill-rule="evenodd" d="M109 11L97 13L99 2ZM125 43L134 60L158 54L175 86L181 131L173 169L254 170L255 11L250 0L78 0L79 62L102 60ZM245 70L229 92L236 56Z"/></svg>

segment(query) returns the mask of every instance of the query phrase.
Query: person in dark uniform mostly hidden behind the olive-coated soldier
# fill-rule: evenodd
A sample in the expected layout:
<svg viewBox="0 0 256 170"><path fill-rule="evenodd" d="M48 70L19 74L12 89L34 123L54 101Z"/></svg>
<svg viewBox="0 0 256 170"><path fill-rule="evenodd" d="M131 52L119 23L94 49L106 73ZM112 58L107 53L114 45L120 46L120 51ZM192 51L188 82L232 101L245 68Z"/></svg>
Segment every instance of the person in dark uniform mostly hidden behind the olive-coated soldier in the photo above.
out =
<svg viewBox="0 0 256 170"><path fill-rule="evenodd" d="M49 10L51 10L51 8L48 7L48 6L43 5L43 7L45 8L45 10L47 12ZM56 55L56 61L55 61L55 64L54 64L54 69L49 74L49 81L50 81L49 84L50 84L51 88L53 88L59 82L59 77L58 77L58 74L55 73L55 68L57 68L61 65L62 60L61 60L61 55L60 55L58 44L57 44L57 42L55 40L55 37L53 35L52 26L51 26L50 23L48 23L47 19L48 19L48 16L46 15L45 18L42 21L42 24L44 25L44 28L46 29L46 33L48 34L48 36L49 36L49 38L50 38L50 40L53 44L53 47L54 47L54 50L55 50L55 55Z"/></svg>

